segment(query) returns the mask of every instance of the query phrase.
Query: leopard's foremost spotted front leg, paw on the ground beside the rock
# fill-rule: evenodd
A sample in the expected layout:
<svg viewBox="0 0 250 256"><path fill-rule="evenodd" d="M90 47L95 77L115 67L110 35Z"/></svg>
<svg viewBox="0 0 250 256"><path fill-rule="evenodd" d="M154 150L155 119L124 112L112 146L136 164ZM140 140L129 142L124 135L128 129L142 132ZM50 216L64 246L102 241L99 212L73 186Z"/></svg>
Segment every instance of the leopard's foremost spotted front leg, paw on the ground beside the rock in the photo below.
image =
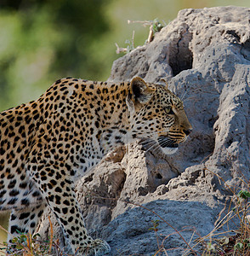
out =
<svg viewBox="0 0 250 256"><path fill-rule="evenodd" d="M88 236L72 188L73 183L69 176L65 174L67 173L66 168L46 165L39 168L39 172L30 172L32 179L37 183L37 188L41 190L48 207L54 212L63 229L65 239L70 242L73 253L77 252L78 255L104 255L110 252L110 247L106 241L94 240L91 236Z"/></svg>

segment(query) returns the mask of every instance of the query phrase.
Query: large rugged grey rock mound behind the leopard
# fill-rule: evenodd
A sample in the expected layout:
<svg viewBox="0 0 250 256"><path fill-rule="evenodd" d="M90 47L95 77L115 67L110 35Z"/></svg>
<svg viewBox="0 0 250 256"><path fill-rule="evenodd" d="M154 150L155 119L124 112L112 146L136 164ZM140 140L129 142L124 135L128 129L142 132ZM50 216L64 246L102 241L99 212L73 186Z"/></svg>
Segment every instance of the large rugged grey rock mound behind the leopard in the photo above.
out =
<svg viewBox="0 0 250 256"><path fill-rule="evenodd" d="M185 103L190 138L172 156L139 143L118 148L77 184L77 198L111 255L152 255L162 241L168 255L180 255L185 241L213 230L224 202L250 178L250 9L181 10L150 44L116 60L109 80L134 76L168 81ZM47 236L48 218L39 231Z"/></svg>

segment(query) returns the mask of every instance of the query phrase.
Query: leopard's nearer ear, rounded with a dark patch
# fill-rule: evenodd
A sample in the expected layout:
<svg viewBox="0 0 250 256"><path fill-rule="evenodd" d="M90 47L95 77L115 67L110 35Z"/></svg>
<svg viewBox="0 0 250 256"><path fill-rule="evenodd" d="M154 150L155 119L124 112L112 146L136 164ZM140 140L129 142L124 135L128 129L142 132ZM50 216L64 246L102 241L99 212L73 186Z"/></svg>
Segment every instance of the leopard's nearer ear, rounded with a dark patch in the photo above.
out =
<svg viewBox="0 0 250 256"><path fill-rule="evenodd" d="M139 77L132 79L131 81L131 93L134 98L134 102L145 104L151 100L153 91L145 83L145 81Z"/></svg>

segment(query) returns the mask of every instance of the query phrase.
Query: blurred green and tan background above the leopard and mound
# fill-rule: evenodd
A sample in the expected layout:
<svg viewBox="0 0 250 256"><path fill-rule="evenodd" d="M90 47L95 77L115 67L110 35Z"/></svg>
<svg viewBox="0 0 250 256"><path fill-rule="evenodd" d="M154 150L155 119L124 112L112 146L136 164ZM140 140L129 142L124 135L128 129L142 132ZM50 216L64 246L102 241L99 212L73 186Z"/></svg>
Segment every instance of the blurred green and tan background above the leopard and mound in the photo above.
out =
<svg viewBox="0 0 250 256"><path fill-rule="evenodd" d="M0 111L36 99L56 79L107 79L123 55L115 43L127 47L133 31L135 46L148 36L148 27L127 20L168 24L180 9L224 5L250 1L0 0Z"/></svg>

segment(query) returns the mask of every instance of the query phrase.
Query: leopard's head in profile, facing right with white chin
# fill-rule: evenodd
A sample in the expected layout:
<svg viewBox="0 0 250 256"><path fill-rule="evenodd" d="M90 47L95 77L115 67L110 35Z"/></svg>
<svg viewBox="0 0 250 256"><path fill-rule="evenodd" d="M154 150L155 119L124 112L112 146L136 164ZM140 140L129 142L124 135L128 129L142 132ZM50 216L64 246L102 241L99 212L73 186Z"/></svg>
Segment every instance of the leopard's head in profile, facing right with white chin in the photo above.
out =
<svg viewBox="0 0 250 256"><path fill-rule="evenodd" d="M173 154L192 131L183 102L168 86L134 78L126 102L132 137L143 139L146 148L161 148L164 154Z"/></svg>

